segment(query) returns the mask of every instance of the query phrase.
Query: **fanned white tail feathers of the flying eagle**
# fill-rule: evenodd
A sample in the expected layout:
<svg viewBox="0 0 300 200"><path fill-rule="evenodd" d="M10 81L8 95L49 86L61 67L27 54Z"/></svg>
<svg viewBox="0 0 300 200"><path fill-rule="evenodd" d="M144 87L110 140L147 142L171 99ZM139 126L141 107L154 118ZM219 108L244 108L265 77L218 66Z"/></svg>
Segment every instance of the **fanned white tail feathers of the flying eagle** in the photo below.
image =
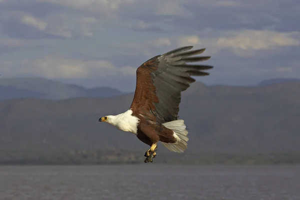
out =
<svg viewBox="0 0 300 200"><path fill-rule="evenodd" d="M169 128L173 131L173 136L176 138L175 143L165 143L161 142L168 150L174 151L177 153L182 153L187 148L187 133L188 131L185 129L186 126L182 119L177 119L170 122L162 123L163 126Z"/></svg>

